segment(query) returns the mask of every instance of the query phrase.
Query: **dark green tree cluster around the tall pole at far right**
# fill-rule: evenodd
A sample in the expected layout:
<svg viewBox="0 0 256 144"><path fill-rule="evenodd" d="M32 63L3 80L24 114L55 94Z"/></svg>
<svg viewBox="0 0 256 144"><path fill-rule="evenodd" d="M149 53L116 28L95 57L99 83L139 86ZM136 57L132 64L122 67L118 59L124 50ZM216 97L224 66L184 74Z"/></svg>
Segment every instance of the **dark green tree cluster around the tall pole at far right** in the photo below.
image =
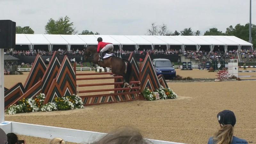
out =
<svg viewBox="0 0 256 144"><path fill-rule="evenodd" d="M229 26L226 29L227 36L236 36L241 38L247 42L249 42L249 23L245 25L237 24L235 28L233 26ZM252 24L252 44L256 46L256 25Z"/></svg>

